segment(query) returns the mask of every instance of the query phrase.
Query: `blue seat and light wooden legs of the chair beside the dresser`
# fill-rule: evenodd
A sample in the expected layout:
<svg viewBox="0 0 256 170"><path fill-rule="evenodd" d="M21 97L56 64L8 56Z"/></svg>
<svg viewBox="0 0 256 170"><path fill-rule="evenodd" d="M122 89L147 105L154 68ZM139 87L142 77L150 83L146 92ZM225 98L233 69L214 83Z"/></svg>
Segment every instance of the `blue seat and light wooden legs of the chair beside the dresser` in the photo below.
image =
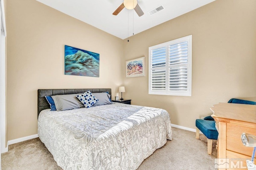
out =
<svg viewBox="0 0 256 170"><path fill-rule="evenodd" d="M199 130L207 137L207 151L212 154L212 140L218 139L215 121L196 119L196 138L199 139Z"/></svg>

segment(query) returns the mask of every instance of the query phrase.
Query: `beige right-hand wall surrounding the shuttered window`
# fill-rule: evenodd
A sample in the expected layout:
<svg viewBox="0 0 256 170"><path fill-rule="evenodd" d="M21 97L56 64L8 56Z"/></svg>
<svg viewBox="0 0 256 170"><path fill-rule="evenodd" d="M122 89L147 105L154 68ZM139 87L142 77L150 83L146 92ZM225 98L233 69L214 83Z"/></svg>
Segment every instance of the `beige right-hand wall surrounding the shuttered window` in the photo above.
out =
<svg viewBox="0 0 256 170"><path fill-rule="evenodd" d="M192 34L192 97L148 95L148 47ZM195 128L210 107L256 96L256 1L216 0L124 42L124 61L145 56L146 76L125 78L132 104L159 107ZM123 63L124 63L123 61Z"/></svg>

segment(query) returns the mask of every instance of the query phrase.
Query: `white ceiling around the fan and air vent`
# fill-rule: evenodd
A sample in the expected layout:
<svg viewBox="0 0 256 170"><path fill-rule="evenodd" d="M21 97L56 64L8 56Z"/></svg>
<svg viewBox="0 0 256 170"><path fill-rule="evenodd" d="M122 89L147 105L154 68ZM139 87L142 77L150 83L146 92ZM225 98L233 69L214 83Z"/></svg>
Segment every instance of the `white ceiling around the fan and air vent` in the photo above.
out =
<svg viewBox="0 0 256 170"><path fill-rule="evenodd" d="M117 16L112 13L123 0L37 0L69 16L77 18L118 38L125 39L132 34L162 24L214 0L138 0L144 15L138 17L134 10L124 8ZM153 15L148 12L163 5ZM129 24L128 24L129 23Z"/></svg>

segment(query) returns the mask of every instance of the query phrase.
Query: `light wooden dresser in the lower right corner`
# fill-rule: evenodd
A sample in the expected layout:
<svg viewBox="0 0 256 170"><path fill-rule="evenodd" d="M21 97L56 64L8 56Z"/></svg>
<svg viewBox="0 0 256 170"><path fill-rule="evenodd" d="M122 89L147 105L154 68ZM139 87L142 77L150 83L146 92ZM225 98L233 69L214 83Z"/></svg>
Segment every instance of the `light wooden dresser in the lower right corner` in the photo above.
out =
<svg viewBox="0 0 256 170"><path fill-rule="evenodd" d="M241 134L256 135L256 105L219 103L210 109L219 132L218 158L229 158L228 170L247 170L246 158L251 159L253 147L243 145Z"/></svg>

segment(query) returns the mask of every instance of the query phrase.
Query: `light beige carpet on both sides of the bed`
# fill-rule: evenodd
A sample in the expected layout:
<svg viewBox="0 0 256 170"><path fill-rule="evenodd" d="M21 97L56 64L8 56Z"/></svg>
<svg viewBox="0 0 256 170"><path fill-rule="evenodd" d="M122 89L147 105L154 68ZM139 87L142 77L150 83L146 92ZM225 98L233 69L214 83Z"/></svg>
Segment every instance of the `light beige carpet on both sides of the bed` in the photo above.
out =
<svg viewBox="0 0 256 170"><path fill-rule="evenodd" d="M173 140L156 150L138 170L214 170L216 140L212 155L207 154L207 138L179 128L172 128ZM62 170L39 138L9 146L1 154L2 170Z"/></svg>

